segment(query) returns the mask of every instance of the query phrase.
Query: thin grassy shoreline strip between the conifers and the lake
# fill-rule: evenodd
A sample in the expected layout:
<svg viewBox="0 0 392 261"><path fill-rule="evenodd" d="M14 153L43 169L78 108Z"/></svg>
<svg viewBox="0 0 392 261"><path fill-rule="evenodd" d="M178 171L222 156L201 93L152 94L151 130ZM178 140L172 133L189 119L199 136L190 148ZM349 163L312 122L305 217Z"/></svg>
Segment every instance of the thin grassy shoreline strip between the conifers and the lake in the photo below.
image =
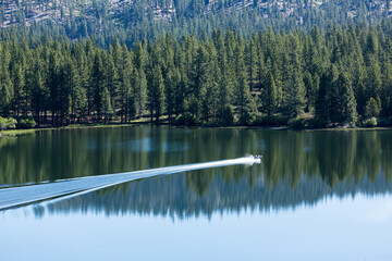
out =
<svg viewBox="0 0 392 261"><path fill-rule="evenodd" d="M168 123L147 123L147 122L135 122L135 123L110 123L110 124L71 124L66 126L59 127L37 127L37 128L27 128L27 129L5 129L0 132L1 137L14 137L26 134L35 134L37 132L45 130L62 130L62 129L88 129L88 128L117 128L117 127L134 127L134 126L168 126L168 127L177 127L177 128L232 128L232 129L270 129L270 130L303 130L303 132L370 132L370 130L392 130L392 126L388 127L291 127L287 125L282 126L246 126L246 125L231 125L231 126L219 126L219 125L174 125Z"/></svg>

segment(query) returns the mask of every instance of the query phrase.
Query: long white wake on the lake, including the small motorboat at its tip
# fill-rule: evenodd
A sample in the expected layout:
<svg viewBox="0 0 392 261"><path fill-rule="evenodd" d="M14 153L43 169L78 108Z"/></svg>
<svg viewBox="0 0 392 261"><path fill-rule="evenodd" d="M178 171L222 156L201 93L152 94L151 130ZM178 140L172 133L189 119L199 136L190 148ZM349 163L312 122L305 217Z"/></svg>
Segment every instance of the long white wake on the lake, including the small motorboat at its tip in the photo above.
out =
<svg viewBox="0 0 392 261"><path fill-rule="evenodd" d="M53 200L50 200L50 202L52 203L54 201L76 197L101 188L158 175L168 175L179 172L196 171L229 165L250 165L254 163L260 163L260 159L254 157L246 157L232 160L167 166L145 171L70 178L53 183L44 183L24 187L3 188L0 189L0 210L56 198Z"/></svg>

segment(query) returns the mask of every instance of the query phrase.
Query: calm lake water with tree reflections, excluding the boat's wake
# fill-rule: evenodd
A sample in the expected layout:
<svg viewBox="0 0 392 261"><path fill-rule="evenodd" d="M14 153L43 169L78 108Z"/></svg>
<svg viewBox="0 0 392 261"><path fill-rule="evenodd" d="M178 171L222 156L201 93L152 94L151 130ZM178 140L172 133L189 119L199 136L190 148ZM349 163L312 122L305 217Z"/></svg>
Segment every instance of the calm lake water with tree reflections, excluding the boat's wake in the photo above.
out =
<svg viewBox="0 0 392 261"><path fill-rule="evenodd" d="M0 139L0 191L262 154L0 211L1 260L391 260L392 132L115 127Z"/></svg>

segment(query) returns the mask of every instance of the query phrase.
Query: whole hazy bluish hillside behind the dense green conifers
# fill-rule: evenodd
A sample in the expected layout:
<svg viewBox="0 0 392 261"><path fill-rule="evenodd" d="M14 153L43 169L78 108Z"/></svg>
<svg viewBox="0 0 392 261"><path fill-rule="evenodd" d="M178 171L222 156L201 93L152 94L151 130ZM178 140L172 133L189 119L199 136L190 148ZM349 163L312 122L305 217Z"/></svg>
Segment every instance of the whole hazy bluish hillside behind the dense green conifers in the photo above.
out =
<svg viewBox="0 0 392 261"><path fill-rule="evenodd" d="M1 0L2 39L93 36L101 47L118 38L133 46L143 38L212 34L241 36L266 30L324 29L331 24L375 24L391 16L390 0Z"/></svg>

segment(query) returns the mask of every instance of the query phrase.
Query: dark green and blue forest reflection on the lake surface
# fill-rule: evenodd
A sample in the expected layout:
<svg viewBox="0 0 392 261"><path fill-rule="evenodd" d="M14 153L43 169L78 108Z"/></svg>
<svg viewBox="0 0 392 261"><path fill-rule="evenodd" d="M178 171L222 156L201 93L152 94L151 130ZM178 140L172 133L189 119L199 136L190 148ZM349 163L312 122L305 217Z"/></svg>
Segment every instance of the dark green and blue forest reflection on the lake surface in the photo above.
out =
<svg viewBox="0 0 392 261"><path fill-rule="evenodd" d="M50 206L49 212L189 216L269 211L327 196L392 191L392 133L124 127L0 139L0 184L181 165L262 153L262 164L134 182ZM42 214L37 209L37 216Z"/></svg>

